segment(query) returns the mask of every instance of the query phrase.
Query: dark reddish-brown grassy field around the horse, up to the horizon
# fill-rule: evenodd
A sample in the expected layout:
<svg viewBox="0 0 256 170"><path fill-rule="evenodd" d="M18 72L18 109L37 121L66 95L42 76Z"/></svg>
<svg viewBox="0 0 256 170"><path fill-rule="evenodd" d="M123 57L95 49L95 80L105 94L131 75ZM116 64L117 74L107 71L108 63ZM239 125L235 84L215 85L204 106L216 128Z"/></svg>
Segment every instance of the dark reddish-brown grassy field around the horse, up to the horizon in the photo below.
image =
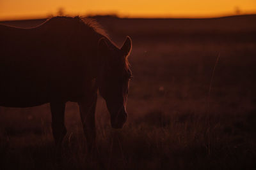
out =
<svg viewBox="0 0 256 170"><path fill-rule="evenodd" d="M256 168L256 15L97 20L116 44L132 38L125 127L111 128L99 97L92 158L77 104L68 103L57 161L49 104L1 107L0 169Z"/></svg>

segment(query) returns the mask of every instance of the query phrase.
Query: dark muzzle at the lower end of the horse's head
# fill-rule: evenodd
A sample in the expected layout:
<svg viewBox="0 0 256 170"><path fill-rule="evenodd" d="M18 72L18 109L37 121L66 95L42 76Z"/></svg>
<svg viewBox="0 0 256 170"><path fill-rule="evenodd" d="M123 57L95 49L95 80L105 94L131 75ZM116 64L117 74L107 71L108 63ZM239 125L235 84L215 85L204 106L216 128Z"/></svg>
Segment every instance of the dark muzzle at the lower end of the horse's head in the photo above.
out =
<svg viewBox="0 0 256 170"><path fill-rule="evenodd" d="M111 115L111 126L115 129L121 129L127 120L127 112L124 106L116 113Z"/></svg>

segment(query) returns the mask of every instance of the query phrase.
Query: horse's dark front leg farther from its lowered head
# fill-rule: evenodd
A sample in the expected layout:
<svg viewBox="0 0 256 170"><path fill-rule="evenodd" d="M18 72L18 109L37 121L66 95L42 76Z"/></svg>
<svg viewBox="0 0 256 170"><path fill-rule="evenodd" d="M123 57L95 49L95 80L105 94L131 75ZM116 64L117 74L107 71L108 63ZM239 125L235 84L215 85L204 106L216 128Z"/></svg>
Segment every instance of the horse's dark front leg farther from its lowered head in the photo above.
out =
<svg viewBox="0 0 256 170"><path fill-rule="evenodd" d="M65 103L51 103L52 134L57 146L60 146L67 129L64 122Z"/></svg>

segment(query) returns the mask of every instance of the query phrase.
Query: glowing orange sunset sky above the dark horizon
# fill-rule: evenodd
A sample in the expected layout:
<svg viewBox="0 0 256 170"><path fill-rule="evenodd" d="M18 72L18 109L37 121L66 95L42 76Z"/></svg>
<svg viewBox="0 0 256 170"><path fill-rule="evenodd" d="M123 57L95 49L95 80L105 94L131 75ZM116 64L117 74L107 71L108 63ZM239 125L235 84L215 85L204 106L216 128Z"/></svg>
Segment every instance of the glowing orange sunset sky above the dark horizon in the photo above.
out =
<svg viewBox="0 0 256 170"><path fill-rule="evenodd" d="M0 0L0 20L65 14L117 14L119 17L220 17L256 13L256 0Z"/></svg>

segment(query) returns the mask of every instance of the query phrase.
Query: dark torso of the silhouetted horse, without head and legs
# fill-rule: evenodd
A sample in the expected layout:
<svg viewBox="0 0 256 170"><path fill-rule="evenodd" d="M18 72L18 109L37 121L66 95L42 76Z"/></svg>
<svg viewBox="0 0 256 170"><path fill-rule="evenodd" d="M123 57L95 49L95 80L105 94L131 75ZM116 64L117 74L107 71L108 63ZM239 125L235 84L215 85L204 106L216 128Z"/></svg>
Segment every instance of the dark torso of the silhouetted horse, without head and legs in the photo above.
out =
<svg viewBox="0 0 256 170"><path fill-rule="evenodd" d="M86 95L84 90L90 88L96 73L97 41L93 40L97 37L92 38L90 32L72 37L76 32L51 22L33 29L0 26L2 106L77 101Z"/></svg>

